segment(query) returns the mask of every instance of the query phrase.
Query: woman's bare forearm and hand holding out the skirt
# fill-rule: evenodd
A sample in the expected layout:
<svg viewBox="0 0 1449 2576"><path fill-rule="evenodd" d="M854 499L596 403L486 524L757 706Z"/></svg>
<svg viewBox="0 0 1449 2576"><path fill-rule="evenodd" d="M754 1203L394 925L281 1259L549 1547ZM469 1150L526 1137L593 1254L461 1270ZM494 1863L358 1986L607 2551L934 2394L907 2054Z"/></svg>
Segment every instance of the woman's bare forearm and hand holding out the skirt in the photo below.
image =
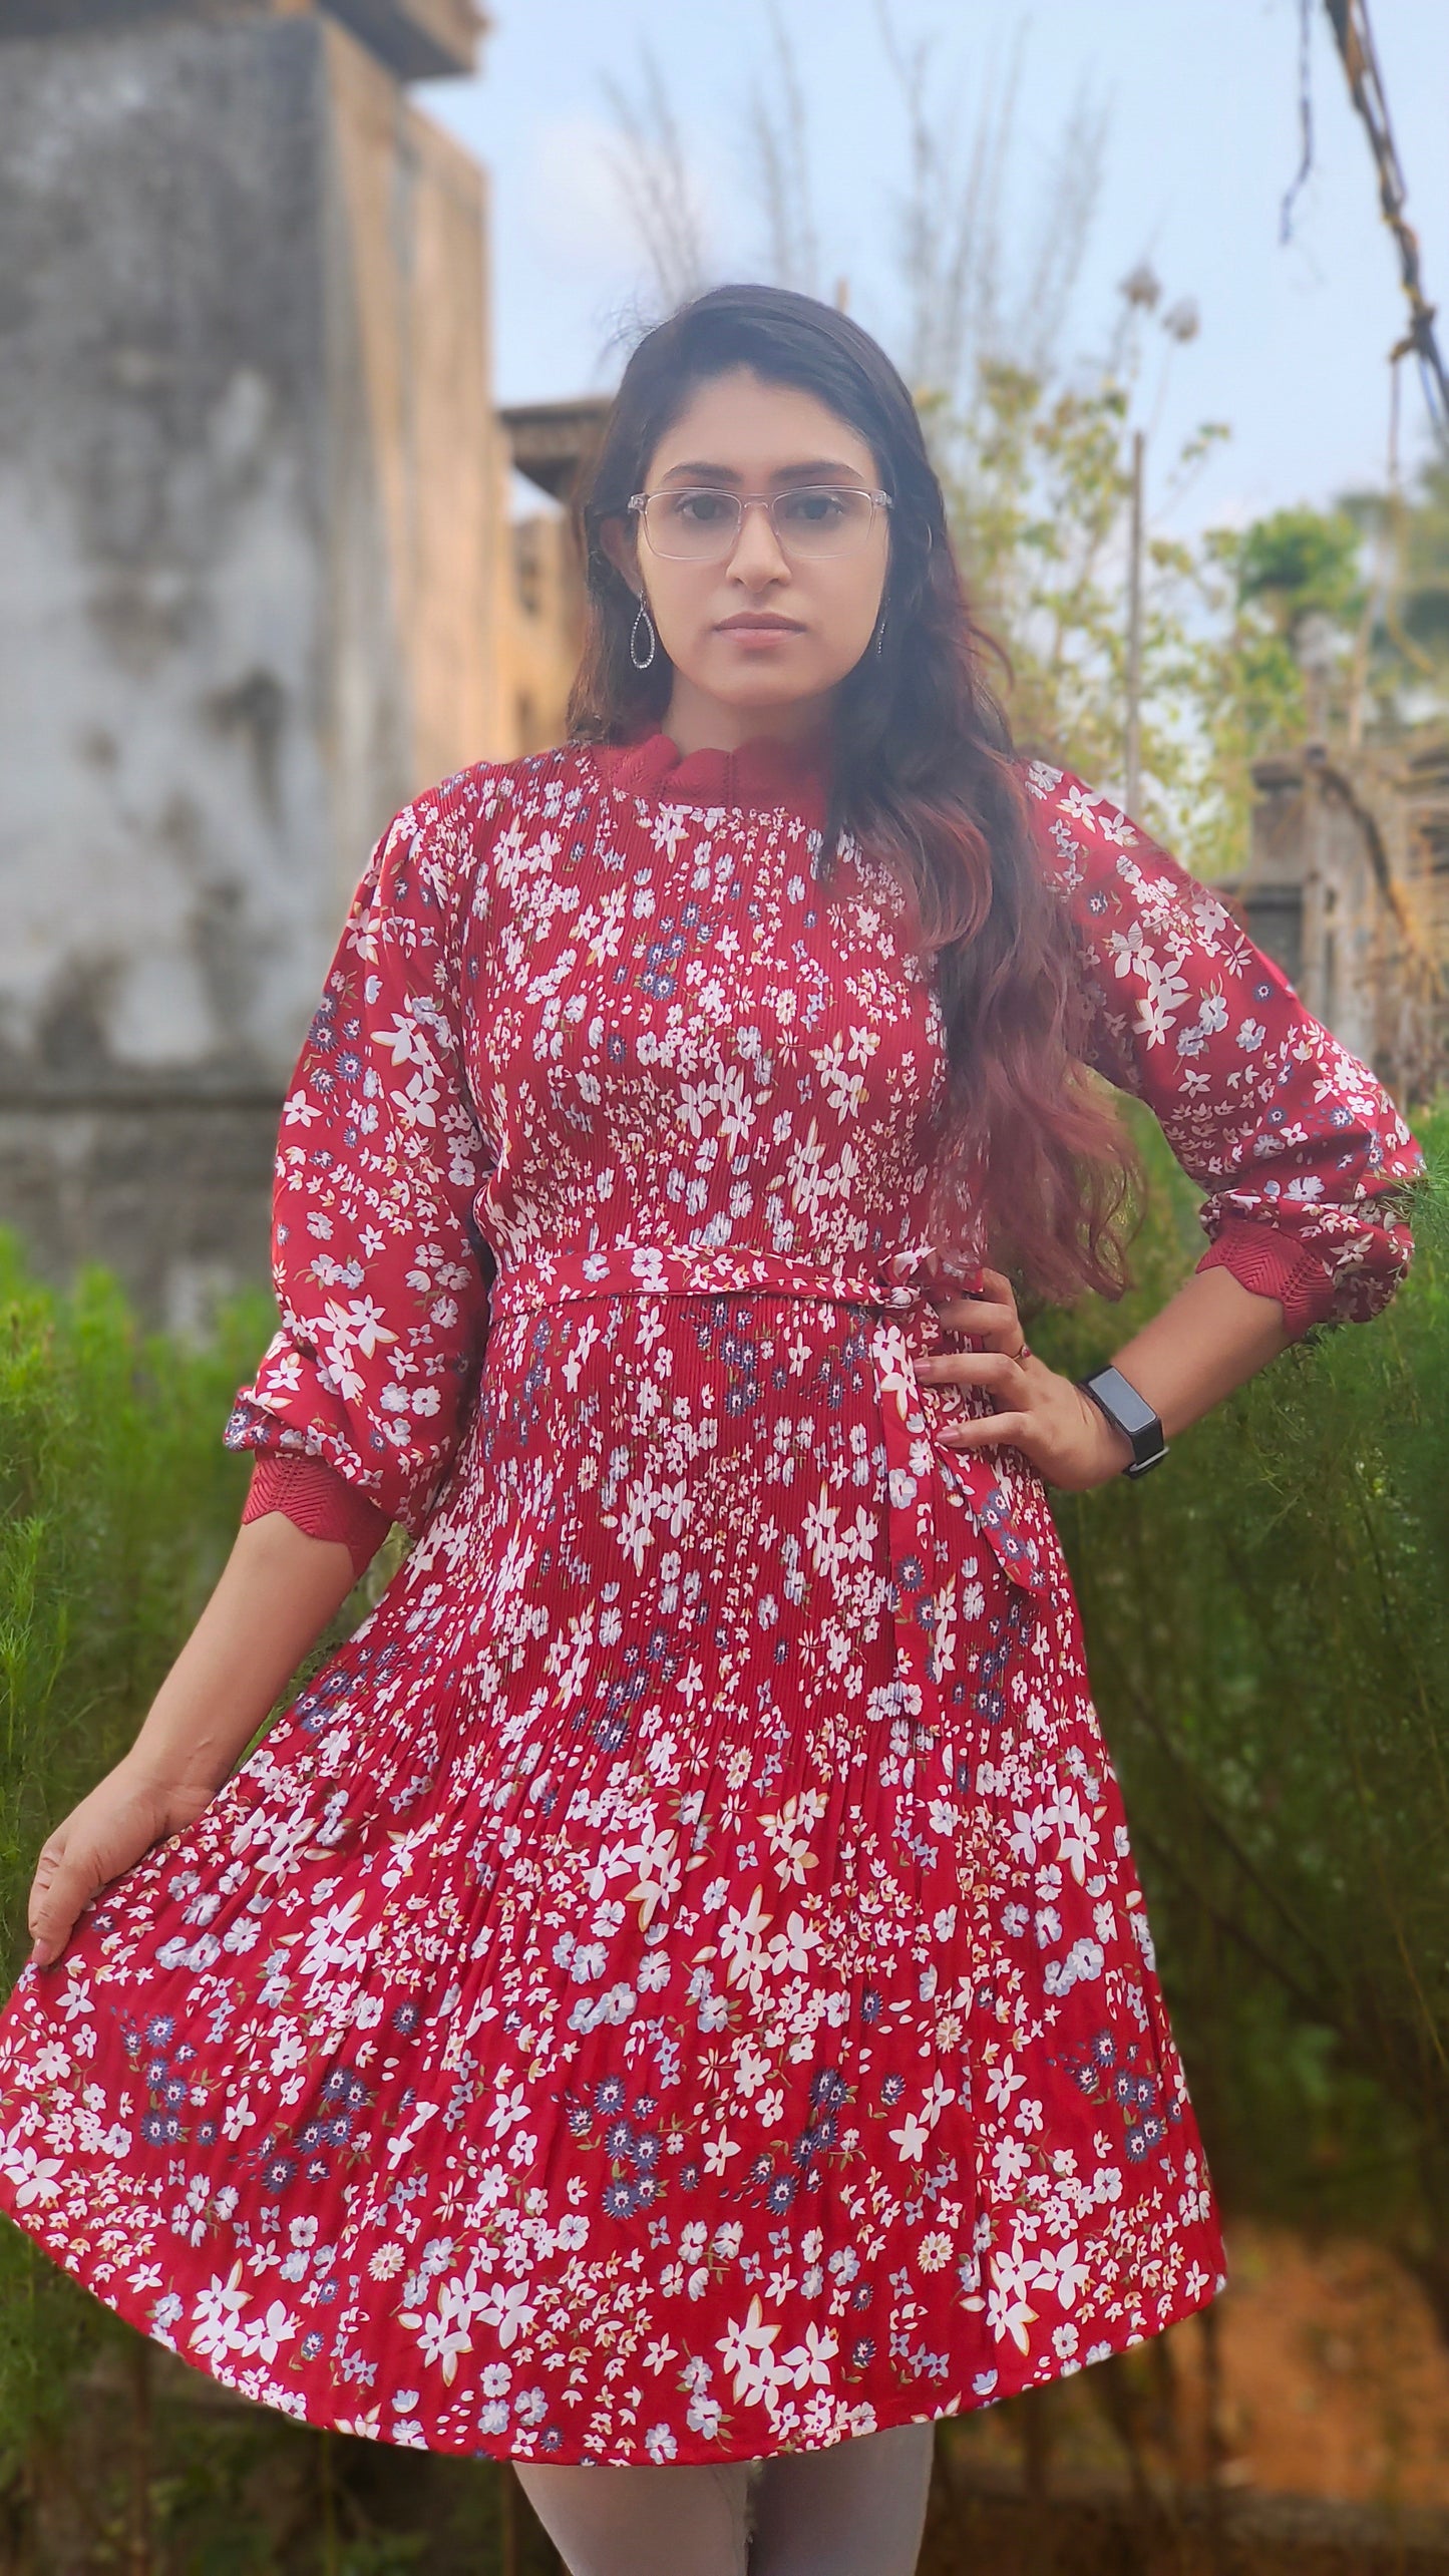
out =
<svg viewBox="0 0 1449 2576"><path fill-rule="evenodd" d="M351 1587L343 1543L307 1538L281 1512L237 1530L137 1741L46 1834L28 1904L34 1965L59 1958L98 1888L196 1824Z"/></svg>

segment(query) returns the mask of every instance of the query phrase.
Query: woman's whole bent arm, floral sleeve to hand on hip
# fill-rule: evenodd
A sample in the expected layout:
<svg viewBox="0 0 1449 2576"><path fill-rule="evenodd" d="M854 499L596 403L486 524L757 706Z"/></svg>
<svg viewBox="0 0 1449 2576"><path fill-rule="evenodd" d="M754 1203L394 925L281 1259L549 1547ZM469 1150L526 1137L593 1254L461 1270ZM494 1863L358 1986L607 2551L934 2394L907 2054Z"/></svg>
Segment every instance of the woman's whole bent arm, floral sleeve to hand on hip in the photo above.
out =
<svg viewBox="0 0 1449 2576"><path fill-rule="evenodd" d="M1369 1066L1168 850L1070 770L1031 762L1026 791L1078 940L1088 1059L1152 1110L1209 1193L1196 1273L1116 1352L1171 1440L1310 1327L1387 1306L1413 1249L1403 1198L1423 1157ZM941 1321L982 1347L918 1360L918 1376L995 1399L993 1414L941 1430L951 1448L1008 1440L1067 1492L1129 1463L1080 1386L1016 1358L1021 1321L1000 1273Z"/></svg>

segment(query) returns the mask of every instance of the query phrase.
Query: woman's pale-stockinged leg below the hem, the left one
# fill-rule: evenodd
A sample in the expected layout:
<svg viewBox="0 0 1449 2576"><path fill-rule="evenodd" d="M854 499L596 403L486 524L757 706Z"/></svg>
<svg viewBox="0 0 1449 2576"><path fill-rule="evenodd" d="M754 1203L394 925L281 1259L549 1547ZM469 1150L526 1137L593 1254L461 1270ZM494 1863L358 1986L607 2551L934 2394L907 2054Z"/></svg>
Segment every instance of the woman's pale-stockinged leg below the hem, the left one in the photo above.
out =
<svg viewBox="0 0 1449 2576"><path fill-rule="evenodd" d="M516 2460L513 2468L570 2576L745 2576L748 2460L719 2468Z"/></svg>

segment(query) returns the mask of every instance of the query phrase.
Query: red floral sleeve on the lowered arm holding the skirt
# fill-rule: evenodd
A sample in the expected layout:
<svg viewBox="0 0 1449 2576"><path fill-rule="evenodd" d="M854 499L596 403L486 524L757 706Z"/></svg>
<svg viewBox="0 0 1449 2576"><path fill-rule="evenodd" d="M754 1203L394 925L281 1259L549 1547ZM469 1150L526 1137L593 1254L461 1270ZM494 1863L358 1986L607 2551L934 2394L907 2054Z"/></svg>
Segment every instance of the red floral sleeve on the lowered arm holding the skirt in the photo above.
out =
<svg viewBox="0 0 1449 2576"><path fill-rule="evenodd" d="M281 1324L222 1435L322 1461L382 1515L379 1535L428 1520L487 1337L492 1255L472 1203L492 1151L462 1046L464 945L477 966L485 917L474 801L441 788L405 806L356 889L281 1108Z"/></svg>

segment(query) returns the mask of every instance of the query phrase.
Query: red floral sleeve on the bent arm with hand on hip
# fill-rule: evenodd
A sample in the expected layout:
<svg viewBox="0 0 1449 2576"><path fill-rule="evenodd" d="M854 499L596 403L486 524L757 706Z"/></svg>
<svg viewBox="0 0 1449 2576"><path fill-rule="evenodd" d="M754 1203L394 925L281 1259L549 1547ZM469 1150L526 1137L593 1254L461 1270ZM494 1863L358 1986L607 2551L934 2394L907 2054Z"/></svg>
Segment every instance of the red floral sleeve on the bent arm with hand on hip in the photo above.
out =
<svg viewBox="0 0 1449 2576"><path fill-rule="evenodd" d="M1207 1190L1196 1267L1276 1296L1294 1340L1374 1316L1408 1270L1403 1200L1423 1172L1395 1103L1119 806L1044 762L1024 783L1078 935L1091 1064Z"/></svg>

